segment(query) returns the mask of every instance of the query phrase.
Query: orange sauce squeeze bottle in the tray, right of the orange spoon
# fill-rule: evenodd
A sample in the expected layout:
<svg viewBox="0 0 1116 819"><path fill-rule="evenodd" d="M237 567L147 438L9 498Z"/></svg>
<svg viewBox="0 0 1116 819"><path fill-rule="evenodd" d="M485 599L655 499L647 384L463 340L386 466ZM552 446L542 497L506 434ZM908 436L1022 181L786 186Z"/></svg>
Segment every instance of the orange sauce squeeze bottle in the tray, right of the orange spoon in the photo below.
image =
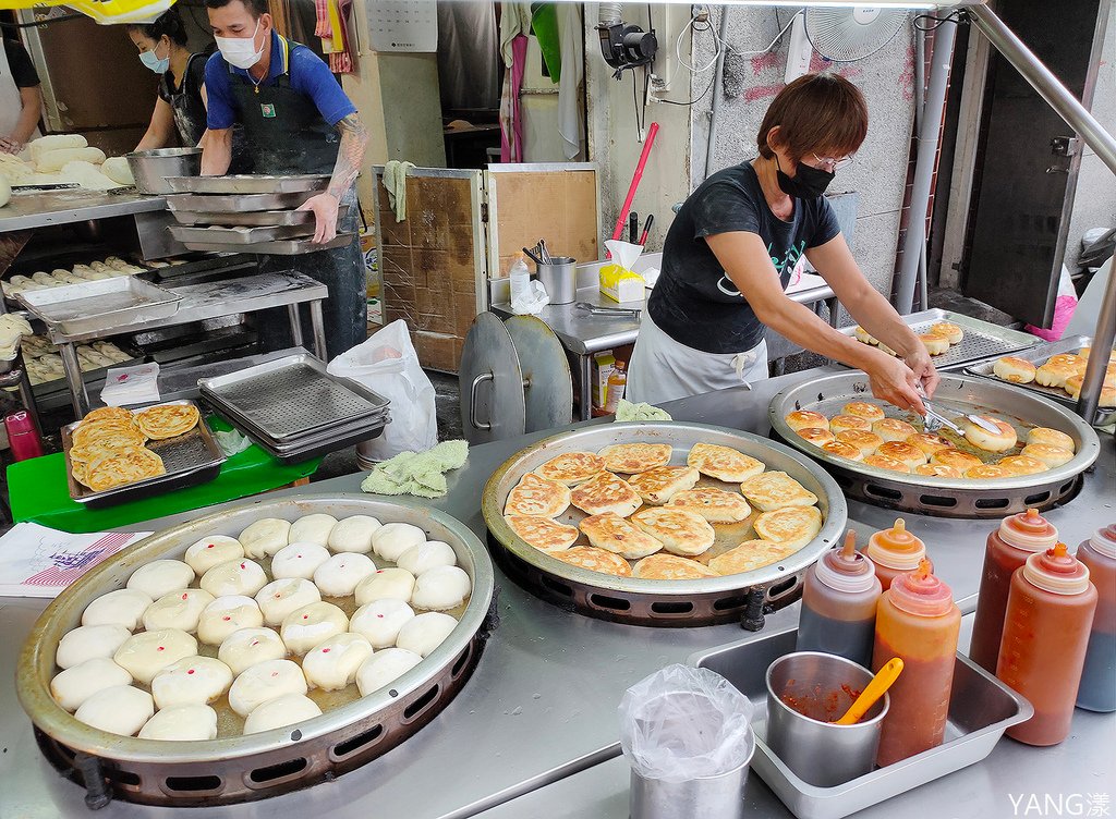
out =
<svg viewBox="0 0 1116 819"><path fill-rule="evenodd" d="M903 673L887 692L891 706L876 764L889 765L942 744L960 630L961 609L953 592L925 558L881 595L872 671L898 657Z"/></svg>

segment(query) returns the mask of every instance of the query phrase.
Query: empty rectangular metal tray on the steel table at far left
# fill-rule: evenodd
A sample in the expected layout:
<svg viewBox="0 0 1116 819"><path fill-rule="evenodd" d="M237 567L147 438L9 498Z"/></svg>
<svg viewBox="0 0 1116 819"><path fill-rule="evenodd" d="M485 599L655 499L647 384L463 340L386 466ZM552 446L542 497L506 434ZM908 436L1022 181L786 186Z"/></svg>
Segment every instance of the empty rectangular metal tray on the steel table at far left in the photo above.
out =
<svg viewBox="0 0 1116 819"><path fill-rule="evenodd" d="M30 290L16 298L67 335L109 334L124 325L169 318L182 300L179 293L135 276Z"/></svg>

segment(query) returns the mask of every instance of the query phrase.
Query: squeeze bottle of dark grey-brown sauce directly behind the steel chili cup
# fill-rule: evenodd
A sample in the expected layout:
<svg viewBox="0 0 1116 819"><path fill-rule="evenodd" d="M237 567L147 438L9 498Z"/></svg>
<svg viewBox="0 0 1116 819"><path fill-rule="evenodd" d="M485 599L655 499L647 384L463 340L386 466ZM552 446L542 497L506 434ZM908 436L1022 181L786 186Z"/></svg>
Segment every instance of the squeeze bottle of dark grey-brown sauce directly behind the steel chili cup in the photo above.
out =
<svg viewBox="0 0 1116 819"><path fill-rule="evenodd" d="M856 550L850 529L844 547L827 551L806 572L795 649L836 654L867 668L879 591L875 567Z"/></svg>

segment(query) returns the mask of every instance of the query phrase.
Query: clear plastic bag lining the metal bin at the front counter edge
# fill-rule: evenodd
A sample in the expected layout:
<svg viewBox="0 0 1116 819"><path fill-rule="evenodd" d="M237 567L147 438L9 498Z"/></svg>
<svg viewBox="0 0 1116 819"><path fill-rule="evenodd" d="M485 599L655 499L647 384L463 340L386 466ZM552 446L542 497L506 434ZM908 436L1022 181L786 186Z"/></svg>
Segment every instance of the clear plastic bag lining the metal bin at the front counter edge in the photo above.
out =
<svg viewBox="0 0 1116 819"><path fill-rule="evenodd" d="M645 779L715 777L752 752L752 704L709 668L668 665L628 688L617 711L624 755Z"/></svg>

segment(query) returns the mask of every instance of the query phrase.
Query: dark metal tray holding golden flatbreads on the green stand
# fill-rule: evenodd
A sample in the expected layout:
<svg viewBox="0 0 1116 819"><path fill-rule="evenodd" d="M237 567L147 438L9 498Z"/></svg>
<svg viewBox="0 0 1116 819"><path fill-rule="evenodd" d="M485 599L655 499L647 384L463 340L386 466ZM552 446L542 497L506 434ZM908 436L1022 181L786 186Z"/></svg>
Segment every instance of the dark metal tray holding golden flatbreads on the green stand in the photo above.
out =
<svg viewBox="0 0 1116 819"><path fill-rule="evenodd" d="M192 401L167 401L140 407L132 412L135 414L152 406L179 405L196 406ZM70 498L92 509L153 498L186 486L196 486L217 478L221 472L221 464L225 461L224 453L213 440L213 434L205 423L204 414L202 414L202 417L198 420L198 425L190 432L165 441L147 442L147 449L163 459L163 465L166 468L165 473L135 483L126 483L123 486L115 486L104 492L94 492L74 480L74 472L70 469L69 451L74 443L73 435L80 425L81 422L76 422L61 428L62 452L66 456L66 481L69 485Z"/></svg>

